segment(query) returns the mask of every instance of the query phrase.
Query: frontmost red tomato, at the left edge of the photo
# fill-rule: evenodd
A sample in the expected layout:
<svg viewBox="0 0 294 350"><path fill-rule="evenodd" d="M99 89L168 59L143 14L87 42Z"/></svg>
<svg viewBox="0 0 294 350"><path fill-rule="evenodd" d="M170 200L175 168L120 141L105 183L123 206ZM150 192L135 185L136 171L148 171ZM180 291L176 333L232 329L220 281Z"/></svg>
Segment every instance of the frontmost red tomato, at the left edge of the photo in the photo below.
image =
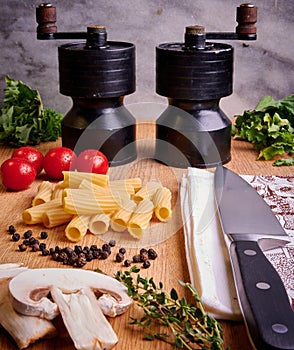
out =
<svg viewBox="0 0 294 350"><path fill-rule="evenodd" d="M25 159L10 158L1 165L3 185L14 191L28 188L37 176L34 166Z"/></svg>

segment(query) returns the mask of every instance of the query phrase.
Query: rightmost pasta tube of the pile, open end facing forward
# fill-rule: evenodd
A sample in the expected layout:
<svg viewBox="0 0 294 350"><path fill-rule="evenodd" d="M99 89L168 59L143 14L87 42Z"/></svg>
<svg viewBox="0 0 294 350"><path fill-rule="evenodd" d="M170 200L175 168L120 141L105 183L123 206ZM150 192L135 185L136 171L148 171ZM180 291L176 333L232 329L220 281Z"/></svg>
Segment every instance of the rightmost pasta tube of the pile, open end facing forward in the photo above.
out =
<svg viewBox="0 0 294 350"><path fill-rule="evenodd" d="M154 214L160 221L168 221L171 217L171 191L166 187L159 188L153 196Z"/></svg>

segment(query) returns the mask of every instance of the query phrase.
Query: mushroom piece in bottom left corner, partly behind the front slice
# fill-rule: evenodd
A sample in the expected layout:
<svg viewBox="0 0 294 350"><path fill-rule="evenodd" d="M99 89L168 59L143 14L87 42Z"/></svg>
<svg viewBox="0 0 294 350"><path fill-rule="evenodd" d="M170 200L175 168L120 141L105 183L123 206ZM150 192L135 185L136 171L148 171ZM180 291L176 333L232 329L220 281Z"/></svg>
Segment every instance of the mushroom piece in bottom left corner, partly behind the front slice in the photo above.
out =
<svg viewBox="0 0 294 350"><path fill-rule="evenodd" d="M0 265L0 323L15 340L20 349L28 347L40 338L56 335L53 324L39 317L17 313L11 305L8 289L12 277L24 272L27 267L20 264Z"/></svg>

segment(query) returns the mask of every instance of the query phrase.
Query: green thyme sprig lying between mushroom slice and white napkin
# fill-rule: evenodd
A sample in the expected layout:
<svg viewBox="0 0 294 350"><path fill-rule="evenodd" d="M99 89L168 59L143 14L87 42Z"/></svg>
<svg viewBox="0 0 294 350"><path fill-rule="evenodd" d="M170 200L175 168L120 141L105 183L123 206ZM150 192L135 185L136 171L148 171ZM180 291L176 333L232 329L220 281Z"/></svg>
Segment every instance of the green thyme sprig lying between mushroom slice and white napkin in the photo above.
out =
<svg viewBox="0 0 294 350"><path fill-rule="evenodd" d="M146 340L158 339L187 350L223 349L221 325L205 312L190 283L179 281L190 292L192 303L185 297L179 298L174 288L167 293L162 282L156 285L153 278L144 278L139 272L140 269L133 266L129 271L118 271L115 278L128 288L129 295L143 309L144 316L131 317L130 324L144 329ZM167 332L158 332L162 329L160 326L167 327Z"/></svg>

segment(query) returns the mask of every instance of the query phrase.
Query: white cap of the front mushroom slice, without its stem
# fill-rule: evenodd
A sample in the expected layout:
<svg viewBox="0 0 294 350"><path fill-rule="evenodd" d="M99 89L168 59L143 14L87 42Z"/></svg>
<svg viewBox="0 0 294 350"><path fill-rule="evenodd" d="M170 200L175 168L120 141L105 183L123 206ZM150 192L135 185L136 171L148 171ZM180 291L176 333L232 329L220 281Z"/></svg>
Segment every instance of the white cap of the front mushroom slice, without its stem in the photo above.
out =
<svg viewBox="0 0 294 350"><path fill-rule="evenodd" d="M10 281L14 309L24 315L52 320L59 314L58 306L48 298L53 286L64 293L91 289L102 312L108 316L122 314L132 303L127 288L113 277L90 270L43 268L27 270Z"/></svg>

